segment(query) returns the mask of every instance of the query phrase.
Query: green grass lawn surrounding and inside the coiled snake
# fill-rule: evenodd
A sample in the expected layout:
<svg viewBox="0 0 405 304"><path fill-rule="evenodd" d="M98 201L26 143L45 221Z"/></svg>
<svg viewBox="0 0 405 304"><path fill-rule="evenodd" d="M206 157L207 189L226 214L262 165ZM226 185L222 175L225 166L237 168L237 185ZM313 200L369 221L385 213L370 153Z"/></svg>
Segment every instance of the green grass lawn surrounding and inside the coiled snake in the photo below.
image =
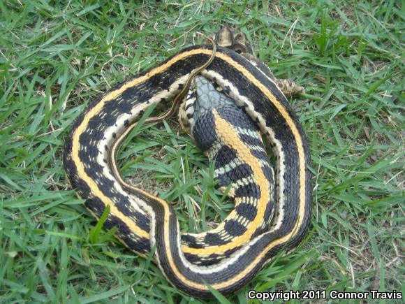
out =
<svg viewBox="0 0 405 304"><path fill-rule="evenodd" d="M249 289L404 292L404 1L128 2L0 1L0 302L196 301L99 229L61 154L89 101L226 23L306 88L290 104L314 172L309 237L229 301ZM142 127L119 163L175 202L184 231L233 208L175 121Z"/></svg>

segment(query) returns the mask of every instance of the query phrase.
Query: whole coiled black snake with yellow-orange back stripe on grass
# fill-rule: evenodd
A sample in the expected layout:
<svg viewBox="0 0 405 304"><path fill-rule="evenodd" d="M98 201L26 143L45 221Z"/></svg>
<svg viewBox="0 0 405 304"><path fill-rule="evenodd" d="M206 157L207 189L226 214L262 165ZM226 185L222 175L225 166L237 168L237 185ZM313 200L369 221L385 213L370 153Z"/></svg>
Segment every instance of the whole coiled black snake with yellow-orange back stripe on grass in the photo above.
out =
<svg viewBox="0 0 405 304"><path fill-rule="evenodd" d="M105 227L117 227L117 238L140 254L156 247L165 277L200 298L212 296L208 286L223 294L240 289L272 256L295 248L311 213L302 127L272 74L251 60L249 44L237 43L235 33L225 27L216 35L219 45L230 39L228 48L186 48L110 89L75 120L64 153L68 178L90 212L99 218L109 206ZM219 186L231 184L235 199L230 215L206 233L181 235L170 203L127 184L117 169L117 149L145 110L173 101L169 113L147 122L182 103L182 124L215 160ZM260 134L277 159L274 176Z"/></svg>

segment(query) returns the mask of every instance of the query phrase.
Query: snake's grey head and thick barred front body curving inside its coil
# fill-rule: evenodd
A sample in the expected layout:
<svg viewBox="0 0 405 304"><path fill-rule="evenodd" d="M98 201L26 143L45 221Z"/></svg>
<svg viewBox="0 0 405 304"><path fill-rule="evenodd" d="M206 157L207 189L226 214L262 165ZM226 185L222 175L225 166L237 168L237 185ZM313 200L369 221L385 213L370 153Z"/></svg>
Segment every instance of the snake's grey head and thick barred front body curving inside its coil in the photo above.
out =
<svg viewBox="0 0 405 304"><path fill-rule="evenodd" d="M215 161L214 178L219 189L225 191L230 185L228 196L235 201L235 209L216 229L182 236L182 243L202 249L195 254L185 253L186 259L210 265L267 231L274 211L274 174L257 126L209 80L196 77L184 106L196 144ZM216 115L231 124L235 132L224 136L222 132L228 130L218 129Z"/></svg>

